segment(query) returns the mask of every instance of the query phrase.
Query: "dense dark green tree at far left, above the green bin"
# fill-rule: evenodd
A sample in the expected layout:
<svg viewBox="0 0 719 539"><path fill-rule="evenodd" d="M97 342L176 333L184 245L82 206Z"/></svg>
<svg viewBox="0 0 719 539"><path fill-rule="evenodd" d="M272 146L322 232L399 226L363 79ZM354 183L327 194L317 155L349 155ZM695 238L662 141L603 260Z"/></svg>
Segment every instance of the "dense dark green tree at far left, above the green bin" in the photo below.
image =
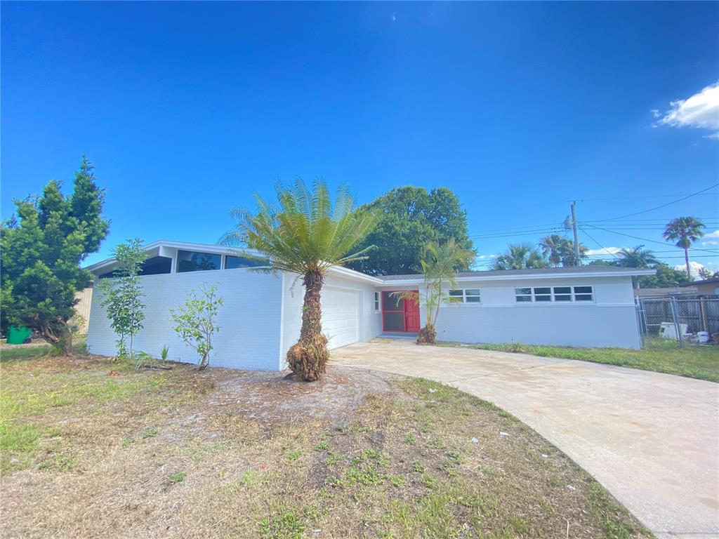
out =
<svg viewBox="0 0 719 539"><path fill-rule="evenodd" d="M75 313L75 293L92 280L80 264L99 249L109 229L102 216L104 190L93 168L83 157L70 196L52 180L39 197L15 201L16 215L3 222L0 232L4 325L32 328L68 354L73 352L68 320Z"/></svg>

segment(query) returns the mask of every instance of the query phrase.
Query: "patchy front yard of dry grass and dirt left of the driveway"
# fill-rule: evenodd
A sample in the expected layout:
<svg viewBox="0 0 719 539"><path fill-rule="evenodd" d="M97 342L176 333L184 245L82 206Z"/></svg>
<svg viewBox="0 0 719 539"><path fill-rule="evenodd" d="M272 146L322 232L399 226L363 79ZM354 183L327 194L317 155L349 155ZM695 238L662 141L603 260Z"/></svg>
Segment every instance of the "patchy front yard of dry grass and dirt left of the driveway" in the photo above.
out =
<svg viewBox="0 0 719 539"><path fill-rule="evenodd" d="M5 538L640 538L502 410L361 369L319 383L6 361Z"/></svg>

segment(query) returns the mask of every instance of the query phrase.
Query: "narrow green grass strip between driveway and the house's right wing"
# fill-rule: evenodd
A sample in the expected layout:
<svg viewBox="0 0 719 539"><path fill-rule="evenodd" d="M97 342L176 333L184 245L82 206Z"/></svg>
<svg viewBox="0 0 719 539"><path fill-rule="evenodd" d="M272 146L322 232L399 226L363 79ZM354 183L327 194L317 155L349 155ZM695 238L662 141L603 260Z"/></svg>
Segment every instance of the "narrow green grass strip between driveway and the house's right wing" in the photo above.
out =
<svg viewBox="0 0 719 539"><path fill-rule="evenodd" d="M440 346L461 346L441 343ZM645 371L666 372L689 378L719 382L719 346L677 348L674 341L651 339L641 350L623 348L572 348L569 346L535 346L530 344L470 344L469 348L532 354L541 357L579 359Z"/></svg>

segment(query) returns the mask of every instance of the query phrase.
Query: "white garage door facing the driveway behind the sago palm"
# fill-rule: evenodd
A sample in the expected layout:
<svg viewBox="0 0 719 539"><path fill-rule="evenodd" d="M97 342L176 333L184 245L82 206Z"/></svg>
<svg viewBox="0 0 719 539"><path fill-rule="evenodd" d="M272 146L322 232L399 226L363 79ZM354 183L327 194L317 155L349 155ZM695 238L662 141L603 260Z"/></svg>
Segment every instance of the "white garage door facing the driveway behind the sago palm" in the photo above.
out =
<svg viewBox="0 0 719 539"><path fill-rule="evenodd" d="M322 289L322 333L330 349L359 341L359 292Z"/></svg>

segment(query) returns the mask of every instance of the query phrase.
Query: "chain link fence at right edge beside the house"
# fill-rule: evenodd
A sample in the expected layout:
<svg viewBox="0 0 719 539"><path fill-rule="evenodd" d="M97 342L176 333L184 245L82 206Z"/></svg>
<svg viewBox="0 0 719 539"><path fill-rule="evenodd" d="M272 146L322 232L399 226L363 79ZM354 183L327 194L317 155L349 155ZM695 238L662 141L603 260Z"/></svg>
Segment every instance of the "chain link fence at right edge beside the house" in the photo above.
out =
<svg viewBox="0 0 719 539"><path fill-rule="evenodd" d="M674 340L677 346L718 344L719 298L636 300L644 345Z"/></svg>

